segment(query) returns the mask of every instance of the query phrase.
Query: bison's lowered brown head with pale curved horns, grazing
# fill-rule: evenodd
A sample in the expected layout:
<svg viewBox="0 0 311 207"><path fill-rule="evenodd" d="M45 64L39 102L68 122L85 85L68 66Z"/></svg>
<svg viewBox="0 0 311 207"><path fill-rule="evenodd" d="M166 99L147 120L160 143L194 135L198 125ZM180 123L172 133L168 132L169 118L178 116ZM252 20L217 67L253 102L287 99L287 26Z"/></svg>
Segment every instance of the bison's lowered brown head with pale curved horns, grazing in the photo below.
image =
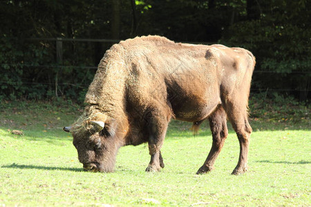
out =
<svg viewBox="0 0 311 207"><path fill-rule="evenodd" d="M84 112L73 126L64 127L73 135L73 145L84 170L113 171L117 150L122 146L117 128L115 119L98 112L96 115Z"/></svg>

